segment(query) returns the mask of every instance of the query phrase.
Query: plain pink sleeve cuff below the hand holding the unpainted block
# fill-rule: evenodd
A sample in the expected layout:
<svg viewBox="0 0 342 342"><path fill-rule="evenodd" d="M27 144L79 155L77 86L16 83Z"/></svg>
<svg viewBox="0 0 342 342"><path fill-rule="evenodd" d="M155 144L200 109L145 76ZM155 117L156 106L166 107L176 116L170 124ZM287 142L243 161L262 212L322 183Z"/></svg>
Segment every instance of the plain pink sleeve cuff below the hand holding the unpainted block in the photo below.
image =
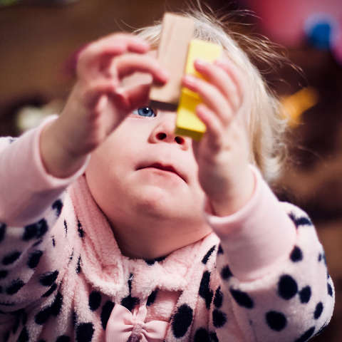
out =
<svg viewBox="0 0 342 342"><path fill-rule="evenodd" d="M0 222L12 227L31 224L40 218L66 187L83 174L86 160L76 174L59 179L49 175L41 161L41 131L57 115L51 115L0 151ZM1 149L0 144L0 149Z"/></svg>

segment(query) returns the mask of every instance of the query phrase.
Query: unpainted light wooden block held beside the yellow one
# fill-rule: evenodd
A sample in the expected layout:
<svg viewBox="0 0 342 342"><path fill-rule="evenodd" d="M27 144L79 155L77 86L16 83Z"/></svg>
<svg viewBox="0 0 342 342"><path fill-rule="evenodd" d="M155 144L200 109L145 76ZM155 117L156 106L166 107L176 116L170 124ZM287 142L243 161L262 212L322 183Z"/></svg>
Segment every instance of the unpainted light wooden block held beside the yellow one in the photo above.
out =
<svg viewBox="0 0 342 342"><path fill-rule="evenodd" d="M181 79L193 31L193 19L170 13L164 15L157 59L170 72L170 80L164 86L151 87L151 107L177 109L182 89Z"/></svg>

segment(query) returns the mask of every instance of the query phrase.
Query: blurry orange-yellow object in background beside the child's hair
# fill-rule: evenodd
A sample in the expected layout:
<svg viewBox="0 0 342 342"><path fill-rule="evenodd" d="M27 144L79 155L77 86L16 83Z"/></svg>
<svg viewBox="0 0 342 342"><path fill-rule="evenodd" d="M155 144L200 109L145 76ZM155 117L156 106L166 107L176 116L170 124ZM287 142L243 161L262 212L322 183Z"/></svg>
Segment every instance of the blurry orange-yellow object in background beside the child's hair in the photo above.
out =
<svg viewBox="0 0 342 342"><path fill-rule="evenodd" d="M318 91L308 87L301 89L281 101L284 117L289 118L289 125L296 127L301 114L318 103Z"/></svg>

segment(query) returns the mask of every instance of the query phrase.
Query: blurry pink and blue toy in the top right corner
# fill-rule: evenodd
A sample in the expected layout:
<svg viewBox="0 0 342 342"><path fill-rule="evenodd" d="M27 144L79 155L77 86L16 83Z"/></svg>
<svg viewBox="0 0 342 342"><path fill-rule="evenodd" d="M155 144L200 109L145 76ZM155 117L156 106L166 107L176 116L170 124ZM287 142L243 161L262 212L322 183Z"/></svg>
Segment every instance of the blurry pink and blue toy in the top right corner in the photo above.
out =
<svg viewBox="0 0 342 342"><path fill-rule="evenodd" d="M330 50L342 65L341 0L242 0L259 17L272 41L299 48L310 44Z"/></svg>

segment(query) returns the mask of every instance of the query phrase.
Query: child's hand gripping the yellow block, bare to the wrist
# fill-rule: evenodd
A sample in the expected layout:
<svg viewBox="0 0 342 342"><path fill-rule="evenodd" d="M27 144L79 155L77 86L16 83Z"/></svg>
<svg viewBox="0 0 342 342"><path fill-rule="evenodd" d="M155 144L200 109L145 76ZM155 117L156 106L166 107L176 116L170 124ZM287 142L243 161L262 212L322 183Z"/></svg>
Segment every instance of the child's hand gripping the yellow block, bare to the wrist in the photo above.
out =
<svg viewBox="0 0 342 342"><path fill-rule="evenodd" d="M242 74L227 59L220 58L214 64L197 60L195 69L206 81L190 75L182 81L202 98L196 113L207 126L202 140L192 143L199 183L214 213L227 216L241 209L254 190L243 120L249 98Z"/></svg>

